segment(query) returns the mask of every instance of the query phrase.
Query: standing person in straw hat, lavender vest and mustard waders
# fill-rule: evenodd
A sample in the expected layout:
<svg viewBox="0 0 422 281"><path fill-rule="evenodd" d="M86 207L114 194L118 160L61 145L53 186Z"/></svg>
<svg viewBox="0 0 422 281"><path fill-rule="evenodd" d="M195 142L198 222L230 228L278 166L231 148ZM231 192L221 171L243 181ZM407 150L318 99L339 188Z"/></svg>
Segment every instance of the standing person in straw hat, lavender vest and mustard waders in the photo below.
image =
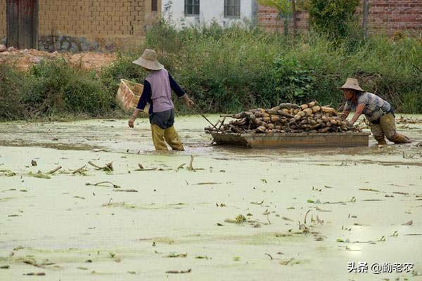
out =
<svg viewBox="0 0 422 281"><path fill-rule="evenodd" d="M141 58L133 62L149 72L143 81L143 92L139 99L134 114L129 119L129 127L134 128L134 122L139 112L149 104L149 119L155 150L184 150L177 131L174 129L174 104L172 102L172 90L179 98L183 98L186 106L194 105L188 95L174 81L172 75L158 63L157 54L154 50L146 49Z"/></svg>

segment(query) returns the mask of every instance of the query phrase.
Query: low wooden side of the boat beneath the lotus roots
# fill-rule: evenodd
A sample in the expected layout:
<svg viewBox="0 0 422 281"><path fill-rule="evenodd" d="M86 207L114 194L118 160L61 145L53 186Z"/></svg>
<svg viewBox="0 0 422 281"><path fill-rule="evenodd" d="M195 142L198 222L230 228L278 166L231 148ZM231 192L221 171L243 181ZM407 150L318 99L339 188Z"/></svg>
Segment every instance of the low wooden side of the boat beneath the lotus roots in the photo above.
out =
<svg viewBox="0 0 422 281"><path fill-rule="evenodd" d="M222 134L212 133L219 145L241 145L250 148L347 148L369 145L369 133L279 133Z"/></svg>

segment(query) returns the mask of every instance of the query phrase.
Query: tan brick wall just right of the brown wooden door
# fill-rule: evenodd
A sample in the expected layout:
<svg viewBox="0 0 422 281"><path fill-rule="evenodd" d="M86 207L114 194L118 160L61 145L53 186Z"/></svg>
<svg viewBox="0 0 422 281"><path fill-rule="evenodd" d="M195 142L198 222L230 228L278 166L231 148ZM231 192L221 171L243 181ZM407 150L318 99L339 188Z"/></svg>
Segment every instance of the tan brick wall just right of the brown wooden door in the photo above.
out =
<svg viewBox="0 0 422 281"><path fill-rule="evenodd" d="M39 0L39 47L52 51L58 42L55 49L107 51L134 44L145 35L145 2Z"/></svg>

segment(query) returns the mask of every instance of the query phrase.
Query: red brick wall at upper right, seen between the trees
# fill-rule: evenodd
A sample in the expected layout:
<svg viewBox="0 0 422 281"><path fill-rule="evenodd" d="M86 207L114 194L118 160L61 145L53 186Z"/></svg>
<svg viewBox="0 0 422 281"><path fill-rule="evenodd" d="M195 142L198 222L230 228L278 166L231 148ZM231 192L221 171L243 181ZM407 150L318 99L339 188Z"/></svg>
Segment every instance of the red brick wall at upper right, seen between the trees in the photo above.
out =
<svg viewBox="0 0 422 281"><path fill-rule="evenodd" d="M362 7L359 7L357 13L362 18ZM260 6L260 26L266 30L275 30L276 14L275 8ZM307 30L308 18L307 13L298 12L298 30ZM422 0L369 0L369 30L388 34L422 32Z"/></svg>

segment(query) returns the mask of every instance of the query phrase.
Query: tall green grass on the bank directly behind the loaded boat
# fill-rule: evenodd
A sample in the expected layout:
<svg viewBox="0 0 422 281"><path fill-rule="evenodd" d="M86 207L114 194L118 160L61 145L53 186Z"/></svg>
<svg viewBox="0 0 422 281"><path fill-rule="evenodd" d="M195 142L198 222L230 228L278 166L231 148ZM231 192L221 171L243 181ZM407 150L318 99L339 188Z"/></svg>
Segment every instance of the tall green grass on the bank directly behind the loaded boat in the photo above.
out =
<svg viewBox="0 0 422 281"><path fill-rule="evenodd" d="M383 35L363 41L359 32L342 41L312 32L294 39L245 25L177 31L161 23L148 33L146 47L159 51L174 77L210 112L311 99L338 106L338 86L357 77L397 110L416 113L422 112L421 42Z"/></svg>

